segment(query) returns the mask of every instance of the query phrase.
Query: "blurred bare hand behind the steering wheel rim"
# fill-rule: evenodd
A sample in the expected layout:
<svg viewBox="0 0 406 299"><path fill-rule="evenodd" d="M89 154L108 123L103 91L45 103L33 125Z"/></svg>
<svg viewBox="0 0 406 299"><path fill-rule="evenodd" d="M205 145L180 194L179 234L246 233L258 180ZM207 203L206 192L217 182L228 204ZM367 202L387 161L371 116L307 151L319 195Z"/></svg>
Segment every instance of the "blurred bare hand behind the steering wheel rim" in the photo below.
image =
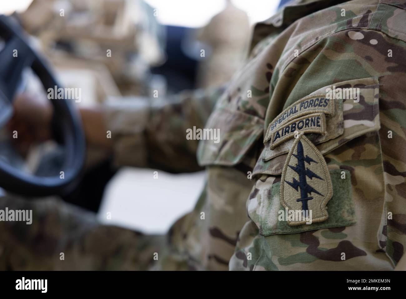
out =
<svg viewBox="0 0 406 299"><path fill-rule="evenodd" d="M34 143L52 137L51 119L53 106L47 98L35 97L26 93L18 95L13 102L14 114L7 124L15 149L26 156ZM15 134L17 133L17 134Z"/></svg>

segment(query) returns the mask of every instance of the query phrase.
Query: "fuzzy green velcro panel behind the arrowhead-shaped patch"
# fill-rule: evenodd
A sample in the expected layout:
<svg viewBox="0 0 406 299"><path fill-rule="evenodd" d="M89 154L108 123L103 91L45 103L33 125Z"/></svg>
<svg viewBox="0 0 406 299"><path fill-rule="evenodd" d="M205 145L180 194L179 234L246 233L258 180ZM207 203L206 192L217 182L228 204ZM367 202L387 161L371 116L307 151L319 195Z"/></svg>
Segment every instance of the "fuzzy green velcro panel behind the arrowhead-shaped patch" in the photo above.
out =
<svg viewBox="0 0 406 299"><path fill-rule="evenodd" d="M341 178L341 172L345 172L345 179ZM337 228L356 223L354 203L352 201L352 186L350 171L344 169L333 169L329 171L331 182L333 184L333 197L328 201L327 211L328 219L323 222L311 224L302 224L297 226L288 225L285 208L280 205L277 213L271 208L272 204L267 205L262 210L262 221L259 233L263 236L274 234L297 234L309 230L319 230L322 228ZM280 182L272 185L270 201L279 202ZM282 215L283 214L283 215ZM278 221L267 221L269 217L276 217ZM281 220L283 219L283 220ZM272 223L272 225L270 225Z"/></svg>

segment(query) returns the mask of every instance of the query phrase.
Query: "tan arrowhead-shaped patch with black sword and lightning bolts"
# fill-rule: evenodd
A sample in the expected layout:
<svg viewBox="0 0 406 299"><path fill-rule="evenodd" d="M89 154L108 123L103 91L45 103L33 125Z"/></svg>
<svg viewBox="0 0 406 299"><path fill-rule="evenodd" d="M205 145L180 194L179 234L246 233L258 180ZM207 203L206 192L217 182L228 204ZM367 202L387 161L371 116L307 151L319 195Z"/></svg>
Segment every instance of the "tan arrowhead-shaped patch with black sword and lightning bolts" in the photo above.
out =
<svg viewBox="0 0 406 299"><path fill-rule="evenodd" d="M322 222L328 218L327 202L333 186L327 164L315 145L303 134L295 140L283 166L280 201L295 215L306 215L288 221L289 225Z"/></svg>

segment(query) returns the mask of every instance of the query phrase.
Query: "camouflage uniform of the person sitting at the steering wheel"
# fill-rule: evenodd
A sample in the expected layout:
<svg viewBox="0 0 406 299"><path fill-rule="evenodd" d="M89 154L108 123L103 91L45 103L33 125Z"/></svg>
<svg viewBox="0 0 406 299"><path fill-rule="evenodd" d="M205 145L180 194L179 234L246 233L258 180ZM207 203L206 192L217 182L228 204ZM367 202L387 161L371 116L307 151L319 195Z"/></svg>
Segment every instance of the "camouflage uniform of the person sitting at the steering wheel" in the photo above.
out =
<svg viewBox="0 0 406 299"><path fill-rule="evenodd" d="M99 111L117 165L206 168L196 207L168 236L102 226L41 200L28 204L28 229L0 223L2 266L394 269L406 245L406 2L296 2L255 26L248 62L224 91ZM349 88L356 96L330 92ZM82 111L84 128L97 143L91 113ZM193 126L219 128L220 142L187 140ZM8 196L2 206L27 203ZM304 207L311 224L281 213Z"/></svg>

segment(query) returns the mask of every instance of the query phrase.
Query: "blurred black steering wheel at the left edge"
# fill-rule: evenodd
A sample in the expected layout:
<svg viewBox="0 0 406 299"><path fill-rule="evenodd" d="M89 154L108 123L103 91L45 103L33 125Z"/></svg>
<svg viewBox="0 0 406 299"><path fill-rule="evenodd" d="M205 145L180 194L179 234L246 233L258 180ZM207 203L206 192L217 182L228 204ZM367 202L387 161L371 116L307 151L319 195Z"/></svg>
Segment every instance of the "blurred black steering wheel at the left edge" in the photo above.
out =
<svg viewBox="0 0 406 299"><path fill-rule="evenodd" d="M58 85L48 63L28 45L23 30L11 17L0 15L0 128L13 114L13 98L27 67L41 80L45 90ZM14 57L17 50L17 57ZM49 98L49 97L48 97ZM85 140L80 117L68 99L50 100L54 107L52 132L64 148L60 171L54 176L35 176L0 159L0 186L21 195L47 196L63 194L74 184L82 170L85 157Z"/></svg>

